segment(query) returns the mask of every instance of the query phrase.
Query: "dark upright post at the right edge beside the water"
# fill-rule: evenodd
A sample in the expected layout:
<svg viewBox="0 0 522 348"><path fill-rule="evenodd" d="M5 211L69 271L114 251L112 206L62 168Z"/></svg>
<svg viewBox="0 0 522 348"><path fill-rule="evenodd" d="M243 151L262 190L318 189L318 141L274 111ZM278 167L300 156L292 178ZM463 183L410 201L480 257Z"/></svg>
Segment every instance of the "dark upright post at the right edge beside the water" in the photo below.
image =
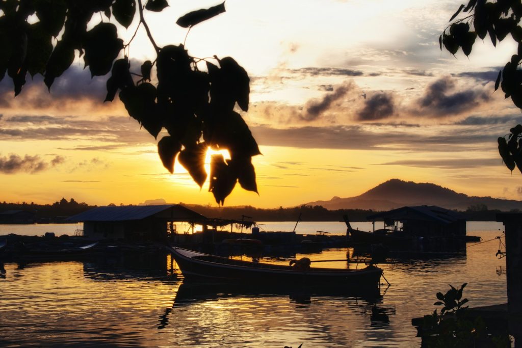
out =
<svg viewBox="0 0 522 348"><path fill-rule="evenodd" d="M504 223L506 236L508 331L522 347L522 213L496 214L496 221Z"/></svg>

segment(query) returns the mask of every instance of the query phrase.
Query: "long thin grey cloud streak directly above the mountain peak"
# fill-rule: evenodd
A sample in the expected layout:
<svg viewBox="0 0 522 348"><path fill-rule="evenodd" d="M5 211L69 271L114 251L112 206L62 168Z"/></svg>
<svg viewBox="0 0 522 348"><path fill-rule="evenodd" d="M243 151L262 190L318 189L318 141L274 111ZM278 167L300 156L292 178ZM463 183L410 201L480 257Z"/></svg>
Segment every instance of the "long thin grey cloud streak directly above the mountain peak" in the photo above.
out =
<svg viewBox="0 0 522 348"><path fill-rule="evenodd" d="M379 163L378 165L405 165L420 168L444 168L444 169L469 169L479 167L498 166L502 163L500 158L483 158L483 159L446 159L446 160L403 160L387 163Z"/></svg>

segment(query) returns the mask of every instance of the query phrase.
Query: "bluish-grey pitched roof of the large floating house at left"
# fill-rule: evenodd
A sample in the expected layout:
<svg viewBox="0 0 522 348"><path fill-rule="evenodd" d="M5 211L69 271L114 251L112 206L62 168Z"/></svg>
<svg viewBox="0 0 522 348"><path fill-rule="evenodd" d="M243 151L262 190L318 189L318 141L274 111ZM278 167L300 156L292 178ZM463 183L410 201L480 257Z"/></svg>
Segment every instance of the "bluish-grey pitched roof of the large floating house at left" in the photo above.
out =
<svg viewBox="0 0 522 348"><path fill-rule="evenodd" d="M155 215L164 210L172 209L173 221L201 222L205 221L203 215L185 208L179 204L159 206L109 206L93 208L76 214L69 221L131 221L141 220Z"/></svg>

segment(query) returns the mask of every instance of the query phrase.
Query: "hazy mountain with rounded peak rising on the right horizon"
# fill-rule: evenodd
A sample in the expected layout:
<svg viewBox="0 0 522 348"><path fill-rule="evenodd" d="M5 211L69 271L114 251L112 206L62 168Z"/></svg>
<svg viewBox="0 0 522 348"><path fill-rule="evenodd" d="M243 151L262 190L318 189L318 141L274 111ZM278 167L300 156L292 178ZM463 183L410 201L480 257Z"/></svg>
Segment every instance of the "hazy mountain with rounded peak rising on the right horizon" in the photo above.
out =
<svg viewBox="0 0 522 348"><path fill-rule="evenodd" d="M490 210L522 210L522 201L491 197L476 197L460 194L449 188L430 183L406 182L391 179L362 195L306 203L311 206L323 206L329 210L337 209L373 209L391 210L404 206L434 205L446 209L466 210L470 206L485 205Z"/></svg>

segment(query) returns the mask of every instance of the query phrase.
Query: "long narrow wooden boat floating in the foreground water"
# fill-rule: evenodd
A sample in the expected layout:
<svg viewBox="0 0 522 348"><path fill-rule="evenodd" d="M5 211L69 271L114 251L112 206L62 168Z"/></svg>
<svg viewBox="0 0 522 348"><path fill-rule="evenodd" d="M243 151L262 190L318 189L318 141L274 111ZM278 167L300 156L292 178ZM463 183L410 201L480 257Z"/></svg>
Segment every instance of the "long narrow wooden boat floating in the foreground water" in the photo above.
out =
<svg viewBox="0 0 522 348"><path fill-rule="evenodd" d="M373 265L362 269L315 268L297 270L291 266L233 260L179 247L167 247L185 279L217 283L272 285L335 285L340 289L372 289L383 273Z"/></svg>

